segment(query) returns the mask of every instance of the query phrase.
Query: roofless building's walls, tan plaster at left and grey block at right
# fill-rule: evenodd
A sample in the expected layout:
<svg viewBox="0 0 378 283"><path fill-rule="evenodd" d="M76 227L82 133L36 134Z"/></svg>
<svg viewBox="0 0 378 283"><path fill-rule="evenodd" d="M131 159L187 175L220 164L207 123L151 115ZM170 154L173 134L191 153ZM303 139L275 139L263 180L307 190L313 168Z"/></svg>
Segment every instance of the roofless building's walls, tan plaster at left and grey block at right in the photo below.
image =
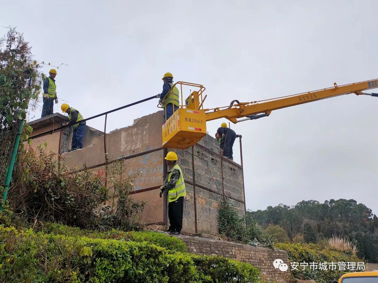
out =
<svg viewBox="0 0 378 283"><path fill-rule="evenodd" d="M33 131L33 135L53 129L52 124L57 125L57 119L62 121L67 119L60 114L52 116L50 123L48 118L34 122L36 130ZM230 160L223 161L222 188L221 155L215 138L206 135L193 148L185 150L166 149L162 147L162 124L163 114L159 111L135 119L132 126L105 134L105 139L101 131L87 127L84 136L85 147L76 151L66 152L70 147L72 136L67 132L68 130L64 130L60 137L56 132L36 138L33 146L44 143L48 138L48 146L54 151L59 151L60 138L60 152L63 152L61 156L68 166L75 170L87 166L91 171L98 172L105 169L106 162L123 158L127 163L129 174L142 171L142 176L134 182L135 191L132 194L136 200L147 201L147 206L141 215L142 222L166 225L169 225L167 201L159 197L159 187L167 170L164 156L167 151L175 151L187 189L182 231L217 234L219 203L223 198L223 191L226 197L231 198L230 201L239 214L245 214L242 167ZM238 143L235 142L234 146L238 146Z"/></svg>

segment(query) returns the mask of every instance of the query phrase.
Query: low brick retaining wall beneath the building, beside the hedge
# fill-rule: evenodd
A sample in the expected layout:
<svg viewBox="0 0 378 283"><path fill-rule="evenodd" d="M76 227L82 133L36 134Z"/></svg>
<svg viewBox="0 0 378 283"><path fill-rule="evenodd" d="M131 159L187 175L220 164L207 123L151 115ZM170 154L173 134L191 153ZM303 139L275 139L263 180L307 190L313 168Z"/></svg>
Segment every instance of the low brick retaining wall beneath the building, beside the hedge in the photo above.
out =
<svg viewBox="0 0 378 283"><path fill-rule="evenodd" d="M263 278L276 282L290 281L290 265L286 251L279 249L257 248L228 241L210 240L200 237L176 236L184 241L189 252L198 255L222 255L224 257L250 263L258 268ZM281 259L289 269L282 272L274 269L273 261Z"/></svg>

